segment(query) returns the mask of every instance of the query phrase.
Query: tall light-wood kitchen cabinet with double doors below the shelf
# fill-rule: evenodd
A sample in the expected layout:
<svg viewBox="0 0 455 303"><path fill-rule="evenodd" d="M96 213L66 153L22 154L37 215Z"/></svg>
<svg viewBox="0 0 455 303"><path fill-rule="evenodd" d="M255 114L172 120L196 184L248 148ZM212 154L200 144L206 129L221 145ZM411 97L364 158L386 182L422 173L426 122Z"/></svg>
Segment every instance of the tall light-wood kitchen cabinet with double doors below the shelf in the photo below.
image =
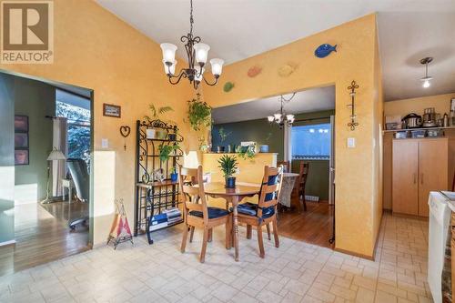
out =
<svg viewBox="0 0 455 303"><path fill-rule="evenodd" d="M428 217L430 191L448 189L449 139L394 139L392 145L392 210Z"/></svg>

